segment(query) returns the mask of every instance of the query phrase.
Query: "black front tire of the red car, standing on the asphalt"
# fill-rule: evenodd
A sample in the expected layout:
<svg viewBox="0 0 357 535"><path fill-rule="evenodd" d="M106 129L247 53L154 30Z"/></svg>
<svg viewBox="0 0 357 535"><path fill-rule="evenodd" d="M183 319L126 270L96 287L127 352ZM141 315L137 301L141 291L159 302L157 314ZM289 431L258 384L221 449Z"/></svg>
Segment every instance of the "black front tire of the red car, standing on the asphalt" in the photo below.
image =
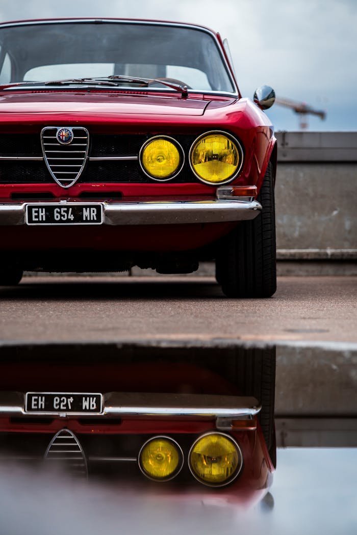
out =
<svg viewBox="0 0 357 535"><path fill-rule="evenodd" d="M276 291L274 178L269 163L257 197L262 211L222 241L216 278L228 297L270 297Z"/></svg>

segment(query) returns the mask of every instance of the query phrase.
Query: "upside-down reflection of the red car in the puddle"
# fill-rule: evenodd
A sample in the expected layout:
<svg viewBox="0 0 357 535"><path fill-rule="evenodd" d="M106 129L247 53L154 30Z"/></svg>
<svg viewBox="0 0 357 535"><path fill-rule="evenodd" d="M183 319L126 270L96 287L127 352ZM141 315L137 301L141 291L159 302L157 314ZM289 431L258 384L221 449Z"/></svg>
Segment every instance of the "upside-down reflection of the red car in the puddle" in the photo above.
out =
<svg viewBox="0 0 357 535"><path fill-rule="evenodd" d="M274 383L274 349L6 346L0 463L204 485L251 503L275 465Z"/></svg>

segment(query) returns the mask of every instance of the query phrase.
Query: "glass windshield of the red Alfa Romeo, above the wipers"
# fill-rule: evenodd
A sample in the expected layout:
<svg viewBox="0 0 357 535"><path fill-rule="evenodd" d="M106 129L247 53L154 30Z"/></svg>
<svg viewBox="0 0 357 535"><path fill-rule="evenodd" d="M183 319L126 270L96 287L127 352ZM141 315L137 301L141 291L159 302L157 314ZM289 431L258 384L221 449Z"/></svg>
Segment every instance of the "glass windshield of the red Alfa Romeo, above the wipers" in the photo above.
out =
<svg viewBox="0 0 357 535"><path fill-rule="evenodd" d="M0 47L2 84L126 75L171 79L198 91L236 91L214 37L199 28L133 22L26 24L0 28Z"/></svg>

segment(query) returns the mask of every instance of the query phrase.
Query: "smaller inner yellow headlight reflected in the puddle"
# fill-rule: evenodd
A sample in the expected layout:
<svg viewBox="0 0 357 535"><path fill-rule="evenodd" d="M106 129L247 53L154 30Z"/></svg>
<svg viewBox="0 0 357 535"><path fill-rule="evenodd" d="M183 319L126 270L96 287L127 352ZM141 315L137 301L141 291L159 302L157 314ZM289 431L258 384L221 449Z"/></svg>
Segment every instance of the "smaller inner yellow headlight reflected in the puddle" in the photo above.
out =
<svg viewBox="0 0 357 535"><path fill-rule="evenodd" d="M177 442L168 437L148 440L139 453L139 467L150 479L167 481L181 470L184 457Z"/></svg>

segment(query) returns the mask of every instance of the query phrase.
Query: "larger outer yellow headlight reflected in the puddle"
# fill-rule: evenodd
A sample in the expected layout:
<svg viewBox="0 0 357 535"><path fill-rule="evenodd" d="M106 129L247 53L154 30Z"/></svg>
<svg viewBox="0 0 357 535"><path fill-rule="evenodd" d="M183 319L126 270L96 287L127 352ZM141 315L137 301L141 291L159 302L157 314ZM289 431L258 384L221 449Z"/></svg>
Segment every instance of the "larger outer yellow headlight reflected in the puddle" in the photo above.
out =
<svg viewBox="0 0 357 535"><path fill-rule="evenodd" d="M201 483L223 486L237 477L242 467L242 455L231 437L209 433L194 443L188 462L193 476Z"/></svg>

